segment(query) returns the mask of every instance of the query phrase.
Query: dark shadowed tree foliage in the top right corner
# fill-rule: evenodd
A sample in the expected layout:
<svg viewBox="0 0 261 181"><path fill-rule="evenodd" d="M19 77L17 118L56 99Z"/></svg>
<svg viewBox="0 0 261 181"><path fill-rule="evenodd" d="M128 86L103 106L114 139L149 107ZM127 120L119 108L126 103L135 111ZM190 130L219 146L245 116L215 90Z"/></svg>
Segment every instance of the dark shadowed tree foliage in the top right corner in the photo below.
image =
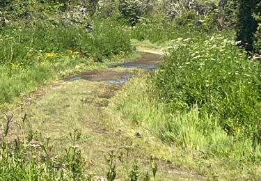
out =
<svg viewBox="0 0 261 181"><path fill-rule="evenodd" d="M237 41L247 52L253 52L254 33L258 29L258 21L254 19L253 13L256 12L260 0L239 0L238 22L237 22Z"/></svg>

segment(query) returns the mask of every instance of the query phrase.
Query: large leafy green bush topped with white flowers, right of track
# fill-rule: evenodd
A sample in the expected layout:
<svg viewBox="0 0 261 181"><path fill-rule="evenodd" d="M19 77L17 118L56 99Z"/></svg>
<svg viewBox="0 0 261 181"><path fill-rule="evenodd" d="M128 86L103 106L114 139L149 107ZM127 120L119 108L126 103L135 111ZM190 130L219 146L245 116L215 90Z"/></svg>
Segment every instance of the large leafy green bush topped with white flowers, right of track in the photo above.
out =
<svg viewBox="0 0 261 181"><path fill-rule="evenodd" d="M260 70L259 63L249 61L235 42L221 35L180 38L155 84L172 113L189 111L197 104L201 118L213 115L235 140L261 143Z"/></svg>

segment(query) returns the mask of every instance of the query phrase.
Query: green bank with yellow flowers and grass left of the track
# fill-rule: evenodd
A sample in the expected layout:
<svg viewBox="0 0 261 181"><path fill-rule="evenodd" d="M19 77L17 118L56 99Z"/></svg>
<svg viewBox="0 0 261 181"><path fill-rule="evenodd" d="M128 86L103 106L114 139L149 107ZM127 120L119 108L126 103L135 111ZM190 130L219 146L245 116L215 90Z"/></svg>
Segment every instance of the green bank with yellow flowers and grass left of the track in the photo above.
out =
<svg viewBox="0 0 261 181"><path fill-rule="evenodd" d="M56 72L104 62L132 52L127 33L97 20L95 31L83 26L8 26L0 36L0 104L54 77ZM95 63L96 62L96 63Z"/></svg>

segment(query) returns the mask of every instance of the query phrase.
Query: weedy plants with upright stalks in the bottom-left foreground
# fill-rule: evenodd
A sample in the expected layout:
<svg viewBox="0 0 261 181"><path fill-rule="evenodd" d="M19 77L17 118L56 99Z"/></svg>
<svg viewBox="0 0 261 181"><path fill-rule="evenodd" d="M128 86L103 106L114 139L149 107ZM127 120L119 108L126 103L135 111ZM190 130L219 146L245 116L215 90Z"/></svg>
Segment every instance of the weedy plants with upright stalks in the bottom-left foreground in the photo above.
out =
<svg viewBox="0 0 261 181"><path fill-rule="evenodd" d="M9 136L10 125L17 124L21 134L16 139ZM89 171L90 162L83 154L79 142L84 139L79 129L68 133L70 146L63 152L56 153L55 146L50 143L51 137L42 136L40 132L26 129L30 127L26 115L16 120L13 115L5 115L0 127L0 180L116 180L118 168L116 162L122 165L129 162L129 148L120 152L111 150L104 155L107 170L98 176ZM93 166L93 165L91 165ZM139 163L134 161L132 168L126 170L129 180L151 180L156 178L157 162L150 157L150 174L142 173ZM127 179L126 178L126 179Z"/></svg>

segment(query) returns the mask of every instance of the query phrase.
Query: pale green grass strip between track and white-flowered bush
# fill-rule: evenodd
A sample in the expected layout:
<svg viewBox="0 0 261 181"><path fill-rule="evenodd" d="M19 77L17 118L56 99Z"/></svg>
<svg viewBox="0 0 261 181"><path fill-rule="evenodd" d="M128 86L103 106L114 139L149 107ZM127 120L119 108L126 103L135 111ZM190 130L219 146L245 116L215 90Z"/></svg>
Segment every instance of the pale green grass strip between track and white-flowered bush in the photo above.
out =
<svg viewBox="0 0 261 181"><path fill-rule="evenodd" d="M239 157L242 150L251 154L248 142L235 143L216 123L211 134L212 143L208 143L210 136L205 137L204 129L198 128L200 109L194 107L183 113L168 113L165 104L155 98L151 85L151 80L144 76L129 81L114 98L112 110L120 112L122 122L136 127L141 134L153 133L161 139L161 148L168 147L168 150L162 150L162 158L171 160L178 168L197 171L209 179L260 179L258 158L251 161L247 156ZM173 139L166 139L166 135ZM222 153L209 152L209 149L222 150Z"/></svg>

